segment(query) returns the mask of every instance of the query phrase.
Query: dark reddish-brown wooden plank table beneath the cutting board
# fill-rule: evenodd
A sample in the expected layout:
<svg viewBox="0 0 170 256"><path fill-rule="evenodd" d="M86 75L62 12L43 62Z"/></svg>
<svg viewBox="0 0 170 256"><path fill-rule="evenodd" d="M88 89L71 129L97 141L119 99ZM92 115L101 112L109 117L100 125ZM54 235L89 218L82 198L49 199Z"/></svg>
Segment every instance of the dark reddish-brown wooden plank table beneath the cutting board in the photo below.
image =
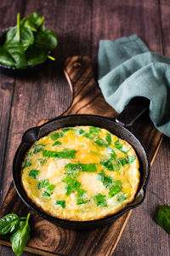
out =
<svg viewBox="0 0 170 256"><path fill-rule="evenodd" d="M54 118L71 102L71 92L59 67L67 56L88 55L97 78L99 39L138 34L153 51L170 56L170 3L168 0L74 0L19 1L1 0L0 29L14 26L16 13L29 15L36 10L45 16L45 24L59 35L54 51L58 61L50 63L36 76L16 79L0 74L0 188L1 203L11 183L14 149L24 131L40 119ZM170 204L170 140L164 137L151 169L144 204L133 210L114 255L170 254L167 233L153 221L159 204ZM0 247L3 256L14 255ZM23 253L23 255L32 255Z"/></svg>

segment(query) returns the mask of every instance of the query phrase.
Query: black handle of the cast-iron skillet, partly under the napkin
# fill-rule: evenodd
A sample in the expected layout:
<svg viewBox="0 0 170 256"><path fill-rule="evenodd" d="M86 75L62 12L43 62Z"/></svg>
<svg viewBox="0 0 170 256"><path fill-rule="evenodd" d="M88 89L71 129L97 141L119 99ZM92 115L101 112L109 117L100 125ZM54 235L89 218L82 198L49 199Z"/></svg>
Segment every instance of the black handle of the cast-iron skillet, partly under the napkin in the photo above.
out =
<svg viewBox="0 0 170 256"><path fill-rule="evenodd" d="M149 106L150 100L147 98L135 97L114 120L118 125L131 128L136 119L138 119L145 111L149 110Z"/></svg>

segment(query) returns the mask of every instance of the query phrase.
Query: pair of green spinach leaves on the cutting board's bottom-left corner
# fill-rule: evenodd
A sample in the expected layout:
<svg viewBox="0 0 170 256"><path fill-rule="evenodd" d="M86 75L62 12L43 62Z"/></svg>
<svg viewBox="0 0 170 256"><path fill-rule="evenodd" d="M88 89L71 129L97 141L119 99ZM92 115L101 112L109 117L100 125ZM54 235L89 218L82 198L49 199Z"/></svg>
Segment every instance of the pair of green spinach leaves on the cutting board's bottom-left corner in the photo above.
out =
<svg viewBox="0 0 170 256"><path fill-rule="evenodd" d="M27 217L18 217L15 213L10 213L0 218L0 235L11 234L10 241L16 256L20 256L30 239L29 218L30 213Z"/></svg>

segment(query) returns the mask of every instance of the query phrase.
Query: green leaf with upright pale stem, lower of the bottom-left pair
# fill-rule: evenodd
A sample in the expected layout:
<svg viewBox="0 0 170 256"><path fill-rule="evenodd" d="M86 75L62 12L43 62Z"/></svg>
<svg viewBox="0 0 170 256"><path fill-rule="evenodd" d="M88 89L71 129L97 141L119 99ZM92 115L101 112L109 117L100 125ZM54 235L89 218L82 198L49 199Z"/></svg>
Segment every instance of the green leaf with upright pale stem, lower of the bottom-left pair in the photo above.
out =
<svg viewBox="0 0 170 256"><path fill-rule="evenodd" d="M16 256L20 256L26 246L27 241L30 239L30 225L28 220L30 218L30 213L28 213L26 221L20 221L20 229L14 232L10 236L10 241L12 242L12 249Z"/></svg>

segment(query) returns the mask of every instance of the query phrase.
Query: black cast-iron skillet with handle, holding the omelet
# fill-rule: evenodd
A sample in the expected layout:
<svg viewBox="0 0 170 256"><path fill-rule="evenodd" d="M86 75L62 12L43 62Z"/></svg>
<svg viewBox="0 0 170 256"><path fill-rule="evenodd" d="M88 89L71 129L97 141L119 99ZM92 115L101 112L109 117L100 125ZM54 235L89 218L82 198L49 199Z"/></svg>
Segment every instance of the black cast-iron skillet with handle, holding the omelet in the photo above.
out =
<svg viewBox="0 0 170 256"><path fill-rule="evenodd" d="M144 149L144 146L139 142L139 139L135 137L130 130L132 128L133 122L138 119L142 113L148 110L148 108L148 100L144 98L136 98L132 102L130 102L127 107L122 111L122 113L120 113L114 119L90 114L68 115L50 120L44 125L37 126L26 131L22 137L20 146L14 156L13 165L14 186L22 201L26 203L27 207L30 207L31 210L37 212L37 214L42 216L42 218L46 218L48 219L48 221L71 229L89 229L103 224L109 224L113 222L116 218L121 217L122 214L127 212L128 210L134 207L138 207L144 201L146 193L145 189L150 176L150 160ZM31 145L40 137L46 136L51 131L57 130L62 127L70 127L76 125L93 125L111 131L111 133L115 134L117 137L120 137L123 140L127 141L127 143L130 143L139 157L139 172L141 177L139 189L134 197L133 202L128 204L127 207L123 208L120 212L112 214L106 218L91 221L71 221L54 218L48 215L46 212L43 212L40 208L32 203L32 201L26 196L26 193L20 183L21 161L23 160L26 151L31 147Z"/></svg>

